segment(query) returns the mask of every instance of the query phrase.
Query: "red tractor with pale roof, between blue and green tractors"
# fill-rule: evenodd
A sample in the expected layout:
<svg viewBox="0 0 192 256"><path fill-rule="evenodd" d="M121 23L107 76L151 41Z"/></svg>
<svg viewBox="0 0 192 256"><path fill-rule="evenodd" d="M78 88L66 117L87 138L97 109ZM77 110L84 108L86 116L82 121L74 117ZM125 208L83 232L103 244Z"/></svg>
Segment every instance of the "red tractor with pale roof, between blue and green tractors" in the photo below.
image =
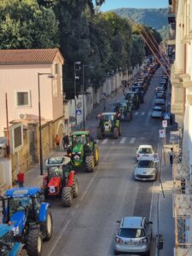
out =
<svg viewBox="0 0 192 256"><path fill-rule="evenodd" d="M46 160L47 173L44 175L44 198L61 197L64 207L71 207L73 197L78 196L79 184L71 165L71 159L66 156L50 157Z"/></svg>

